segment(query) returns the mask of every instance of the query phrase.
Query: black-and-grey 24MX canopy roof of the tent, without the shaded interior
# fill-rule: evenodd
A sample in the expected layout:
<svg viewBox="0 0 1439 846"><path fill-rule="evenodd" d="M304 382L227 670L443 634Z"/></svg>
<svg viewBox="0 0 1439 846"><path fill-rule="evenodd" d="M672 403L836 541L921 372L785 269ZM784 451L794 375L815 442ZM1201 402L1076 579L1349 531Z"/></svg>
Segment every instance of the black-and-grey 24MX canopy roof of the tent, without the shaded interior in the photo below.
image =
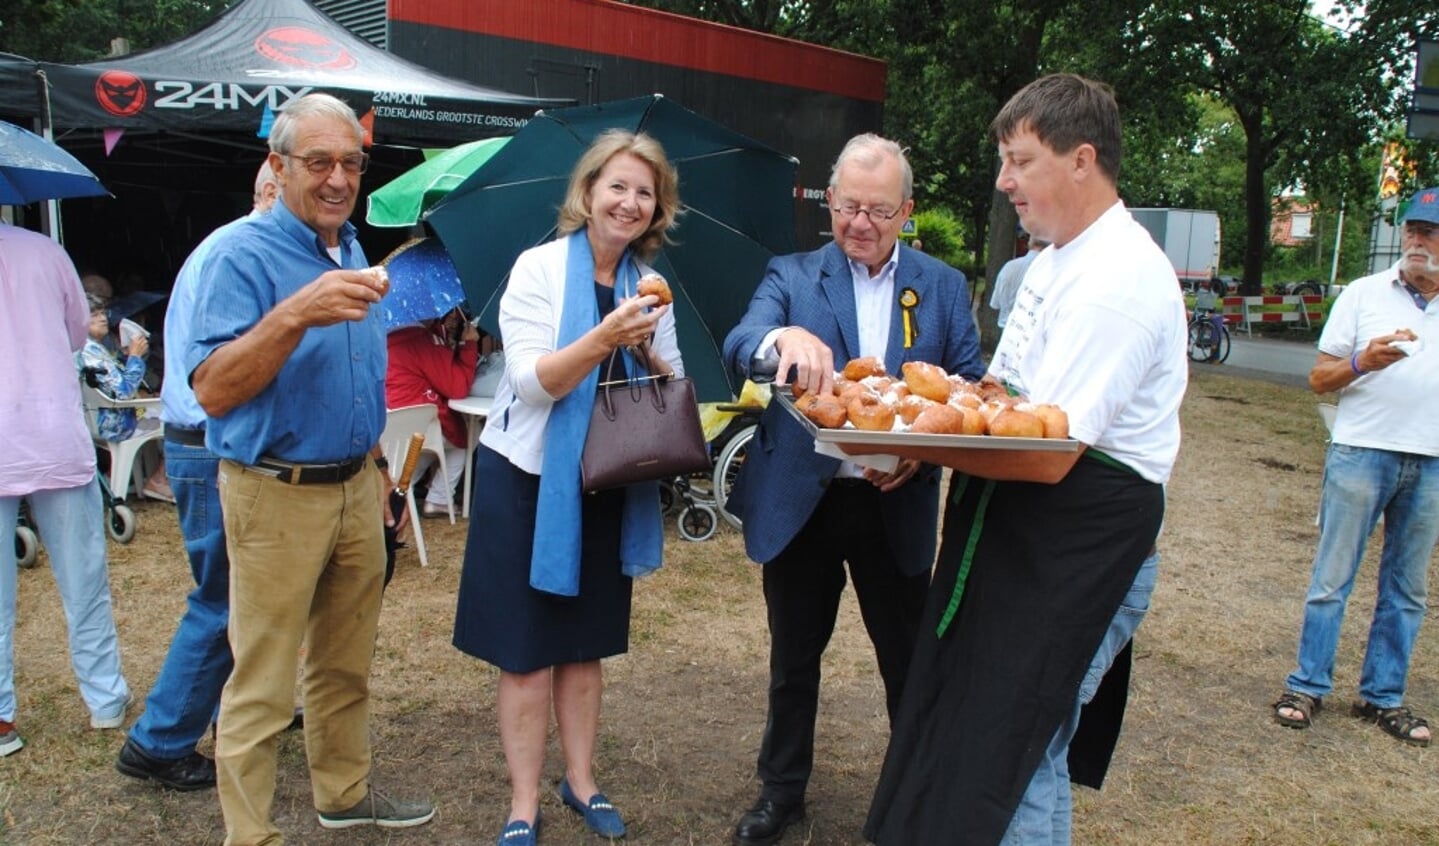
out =
<svg viewBox="0 0 1439 846"><path fill-rule="evenodd" d="M12 58L0 73L9 82L24 63ZM568 102L442 76L371 46L305 0L245 0L194 35L142 53L32 65L49 86L47 122L66 131L253 135L268 112L325 91L354 106L377 142L449 147L512 134L537 109ZM17 111L7 108L12 99L33 105L35 86L0 92L0 112Z"/></svg>

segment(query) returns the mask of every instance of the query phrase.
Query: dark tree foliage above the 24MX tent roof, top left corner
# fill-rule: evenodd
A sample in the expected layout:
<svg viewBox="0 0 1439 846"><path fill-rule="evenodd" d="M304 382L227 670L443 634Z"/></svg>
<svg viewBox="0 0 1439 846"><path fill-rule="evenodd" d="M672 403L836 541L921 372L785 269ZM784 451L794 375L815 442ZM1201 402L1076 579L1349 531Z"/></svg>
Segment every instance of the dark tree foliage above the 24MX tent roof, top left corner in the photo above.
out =
<svg viewBox="0 0 1439 846"><path fill-rule="evenodd" d="M236 0L7 0L0 52L45 62L91 62L130 39L132 52L177 40Z"/></svg>

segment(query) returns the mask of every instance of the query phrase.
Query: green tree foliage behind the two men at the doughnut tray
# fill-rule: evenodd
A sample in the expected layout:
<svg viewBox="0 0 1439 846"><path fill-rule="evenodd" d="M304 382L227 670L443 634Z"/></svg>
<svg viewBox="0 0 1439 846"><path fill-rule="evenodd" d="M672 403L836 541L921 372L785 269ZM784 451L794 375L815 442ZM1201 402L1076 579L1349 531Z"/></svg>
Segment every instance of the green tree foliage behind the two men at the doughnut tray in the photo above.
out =
<svg viewBox="0 0 1439 846"><path fill-rule="evenodd" d="M915 197L954 209L989 275L1014 235L989 121L1043 73L1104 79L1124 109L1125 201L1219 212L1223 263L1252 291L1282 188L1322 214L1343 204L1345 229L1367 222L1413 39L1439 37L1439 6L1415 0L1335 0L1330 20L1309 0L635 1L888 60L885 131L911 147ZM1435 145L1410 148L1415 180L1439 181Z"/></svg>

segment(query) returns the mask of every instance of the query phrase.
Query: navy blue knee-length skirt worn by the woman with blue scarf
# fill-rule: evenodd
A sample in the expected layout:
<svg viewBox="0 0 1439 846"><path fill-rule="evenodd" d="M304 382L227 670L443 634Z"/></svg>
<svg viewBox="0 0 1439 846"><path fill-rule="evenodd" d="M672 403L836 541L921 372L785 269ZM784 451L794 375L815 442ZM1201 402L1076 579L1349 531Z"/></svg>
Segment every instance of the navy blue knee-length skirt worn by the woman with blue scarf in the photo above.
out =
<svg viewBox="0 0 1439 846"><path fill-rule="evenodd" d="M580 594L563 597L530 587L540 476L479 445L473 478L455 646L512 673L627 652L633 580L620 571L625 491L584 495Z"/></svg>

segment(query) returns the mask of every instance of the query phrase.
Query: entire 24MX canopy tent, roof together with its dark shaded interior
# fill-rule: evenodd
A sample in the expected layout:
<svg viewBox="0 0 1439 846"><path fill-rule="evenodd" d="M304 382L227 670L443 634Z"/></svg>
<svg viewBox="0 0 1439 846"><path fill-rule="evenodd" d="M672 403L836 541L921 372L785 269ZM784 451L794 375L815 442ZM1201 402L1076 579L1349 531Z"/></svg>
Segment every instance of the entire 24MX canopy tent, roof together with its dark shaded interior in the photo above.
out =
<svg viewBox="0 0 1439 846"><path fill-rule="evenodd" d="M422 147L509 135L535 111L570 102L442 76L305 0L243 0L186 39L99 62L0 55L0 115L50 131L115 194L65 201L71 255L82 272L134 273L130 285L150 289L168 289L190 249L249 209L262 134L314 91L348 102L370 131L364 190L419 163ZM368 230L363 243L378 259L401 235Z"/></svg>

